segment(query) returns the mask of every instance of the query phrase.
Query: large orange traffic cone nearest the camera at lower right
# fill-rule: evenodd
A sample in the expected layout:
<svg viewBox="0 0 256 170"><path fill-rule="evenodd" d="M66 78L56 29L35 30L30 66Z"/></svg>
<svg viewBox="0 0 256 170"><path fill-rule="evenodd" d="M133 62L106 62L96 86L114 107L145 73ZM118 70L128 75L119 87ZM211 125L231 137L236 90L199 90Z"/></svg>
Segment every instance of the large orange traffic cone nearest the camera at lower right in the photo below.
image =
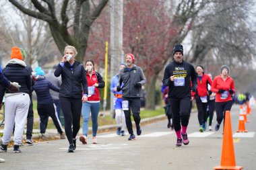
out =
<svg viewBox="0 0 256 170"><path fill-rule="evenodd" d="M224 134L222 141L222 160L220 161L220 166L214 167L214 169L243 169L243 167L236 166L230 111L226 111L225 115Z"/></svg>

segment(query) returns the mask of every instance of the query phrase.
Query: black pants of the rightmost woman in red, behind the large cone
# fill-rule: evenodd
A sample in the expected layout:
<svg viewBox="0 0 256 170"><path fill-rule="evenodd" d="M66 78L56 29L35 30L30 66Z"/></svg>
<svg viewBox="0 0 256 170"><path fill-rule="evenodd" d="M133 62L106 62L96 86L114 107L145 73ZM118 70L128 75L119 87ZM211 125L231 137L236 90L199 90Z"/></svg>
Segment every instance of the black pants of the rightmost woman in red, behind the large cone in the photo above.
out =
<svg viewBox="0 0 256 170"><path fill-rule="evenodd" d="M225 121L225 114L227 110L231 110L232 108L232 100L225 102L215 102L216 114L217 114L217 122L218 124L222 123L222 120Z"/></svg>

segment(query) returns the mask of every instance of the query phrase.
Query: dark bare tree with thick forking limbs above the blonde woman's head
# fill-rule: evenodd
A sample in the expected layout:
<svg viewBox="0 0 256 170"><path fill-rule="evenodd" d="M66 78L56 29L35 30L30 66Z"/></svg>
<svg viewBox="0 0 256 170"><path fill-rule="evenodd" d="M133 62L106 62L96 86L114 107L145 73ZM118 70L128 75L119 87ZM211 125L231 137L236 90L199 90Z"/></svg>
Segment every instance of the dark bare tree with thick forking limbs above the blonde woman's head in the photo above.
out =
<svg viewBox="0 0 256 170"><path fill-rule="evenodd" d="M59 50L63 52L67 44L75 46L78 50L77 60L82 61L88 46L90 27L108 0L31 0L33 8L15 0L9 2L23 13L47 22Z"/></svg>

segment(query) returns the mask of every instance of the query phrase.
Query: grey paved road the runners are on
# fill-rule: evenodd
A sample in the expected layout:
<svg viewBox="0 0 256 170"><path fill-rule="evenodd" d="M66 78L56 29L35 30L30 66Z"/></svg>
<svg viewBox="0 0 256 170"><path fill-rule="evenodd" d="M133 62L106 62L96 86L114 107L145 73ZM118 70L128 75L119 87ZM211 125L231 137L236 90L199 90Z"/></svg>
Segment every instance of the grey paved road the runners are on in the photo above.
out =
<svg viewBox="0 0 256 170"><path fill-rule="evenodd" d="M245 169L255 169L256 110L247 117L249 133L234 137L236 165ZM233 136L238 128L238 106L231 112ZM215 119L216 117L214 117ZM216 121L214 121L215 124ZM67 153L67 140L52 140L22 146L22 153L0 153L5 163L1 170L7 169L185 169L205 170L220 165L222 151L222 126L218 132L198 132L197 114L192 114L188 134L191 143L176 147L174 131L166 128L166 121L142 127L141 136L128 141L128 135L117 136L114 132L98 134L98 144L77 144L75 153Z"/></svg>

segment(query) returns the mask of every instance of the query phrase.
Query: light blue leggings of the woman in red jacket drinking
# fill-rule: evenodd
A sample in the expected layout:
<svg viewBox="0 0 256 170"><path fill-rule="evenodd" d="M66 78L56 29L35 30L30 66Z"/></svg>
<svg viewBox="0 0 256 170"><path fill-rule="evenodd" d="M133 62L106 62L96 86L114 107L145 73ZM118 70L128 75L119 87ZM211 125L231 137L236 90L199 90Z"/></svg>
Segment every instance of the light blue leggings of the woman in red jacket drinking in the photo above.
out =
<svg viewBox="0 0 256 170"><path fill-rule="evenodd" d="M100 102L98 103L83 103L82 106L82 116L83 116L83 125L82 130L83 134L87 136L88 134L88 124L90 120L90 112L92 113L92 136L96 136L98 130L98 112L100 112Z"/></svg>

